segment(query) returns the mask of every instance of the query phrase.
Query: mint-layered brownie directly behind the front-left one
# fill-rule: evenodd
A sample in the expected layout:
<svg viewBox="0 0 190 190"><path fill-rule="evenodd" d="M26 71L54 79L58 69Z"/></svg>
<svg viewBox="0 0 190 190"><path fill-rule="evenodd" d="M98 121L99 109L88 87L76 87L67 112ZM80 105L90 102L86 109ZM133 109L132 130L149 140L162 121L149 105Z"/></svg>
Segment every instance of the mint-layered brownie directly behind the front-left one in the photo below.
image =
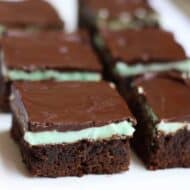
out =
<svg viewBox="0 0 190 190"><path fill-rule="evenodd" d="M1 58L1 73L10 81L102 79L101 64L85 31L4 37Z"/></svg>

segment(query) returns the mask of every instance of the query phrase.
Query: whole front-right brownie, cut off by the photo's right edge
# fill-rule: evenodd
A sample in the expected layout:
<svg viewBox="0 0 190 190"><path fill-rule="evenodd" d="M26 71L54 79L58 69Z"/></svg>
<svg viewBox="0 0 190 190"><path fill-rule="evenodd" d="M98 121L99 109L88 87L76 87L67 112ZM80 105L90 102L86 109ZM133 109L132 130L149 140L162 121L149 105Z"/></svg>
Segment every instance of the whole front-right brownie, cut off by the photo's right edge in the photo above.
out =
<svg viewBox="0 0 190 190"><path fill-rule="evenodd" d="M133 85L129 102L139 157L151 170L190 167L190 86L169 75L140 77Z"/></svg>

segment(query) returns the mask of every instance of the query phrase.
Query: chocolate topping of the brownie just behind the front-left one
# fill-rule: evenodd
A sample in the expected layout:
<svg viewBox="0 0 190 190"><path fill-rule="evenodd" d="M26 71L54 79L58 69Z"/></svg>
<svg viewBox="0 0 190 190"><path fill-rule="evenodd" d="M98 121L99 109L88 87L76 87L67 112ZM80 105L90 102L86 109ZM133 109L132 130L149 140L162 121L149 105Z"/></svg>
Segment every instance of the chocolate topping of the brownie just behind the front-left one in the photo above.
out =
<svg viewBox="0 0 190 190"><path fill-rule="evenodd" d="M7 69L102 71L89 36L84 31L13 35L6 37L2 44Z"/></svg>

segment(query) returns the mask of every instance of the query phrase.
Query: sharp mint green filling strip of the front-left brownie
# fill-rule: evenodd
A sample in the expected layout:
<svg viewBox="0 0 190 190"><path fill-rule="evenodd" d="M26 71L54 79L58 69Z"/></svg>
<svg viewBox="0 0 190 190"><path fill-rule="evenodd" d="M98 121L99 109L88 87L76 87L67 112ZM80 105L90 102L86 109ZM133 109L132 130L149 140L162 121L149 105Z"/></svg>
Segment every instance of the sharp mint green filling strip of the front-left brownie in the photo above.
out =
<svg viewBox="0 0 190 190"><path fill-rule="evenodd" d="M80 140L103 140L109 139L112 136L132 136L134 128L132 123L122 121L119 123L111 123L102 127L93 127L83 129L80 131L44 131L44 132L25 132L24 140L30 145L44 145L44 144L62 144L75 143Z"/></svg>

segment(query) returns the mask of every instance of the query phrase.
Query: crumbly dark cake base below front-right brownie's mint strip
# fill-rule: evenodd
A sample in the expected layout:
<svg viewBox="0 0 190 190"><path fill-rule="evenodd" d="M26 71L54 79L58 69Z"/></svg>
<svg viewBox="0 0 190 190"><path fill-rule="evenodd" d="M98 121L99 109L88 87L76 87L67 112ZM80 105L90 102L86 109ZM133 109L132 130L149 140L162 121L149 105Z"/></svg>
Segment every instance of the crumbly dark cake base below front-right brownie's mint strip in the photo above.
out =
<svg viewBox="0 0 190 190"><path fill-rule="evenodd" d="M150 170L190 167L190 132L179 130L174 135L157 134L154 138L148 137L138 128L132 145L137 155Z"/></svg>

